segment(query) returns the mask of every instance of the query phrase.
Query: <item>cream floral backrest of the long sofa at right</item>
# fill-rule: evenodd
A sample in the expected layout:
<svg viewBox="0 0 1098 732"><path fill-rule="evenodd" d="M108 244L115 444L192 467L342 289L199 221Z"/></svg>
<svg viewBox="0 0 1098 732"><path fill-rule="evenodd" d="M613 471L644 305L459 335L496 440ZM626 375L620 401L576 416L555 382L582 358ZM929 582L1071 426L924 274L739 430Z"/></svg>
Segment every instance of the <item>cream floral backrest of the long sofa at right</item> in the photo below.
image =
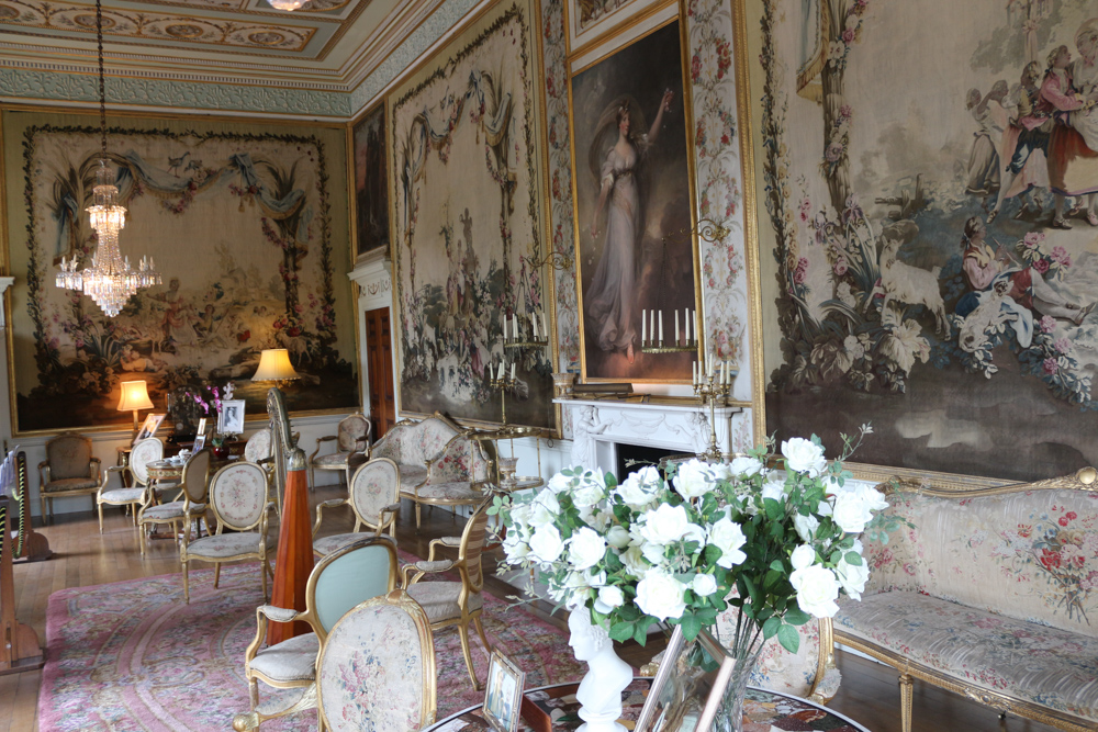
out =
<svg viewBox="0 0 1098 732"><path fill-rule="evenodd" d="M867 594L925 593L1098 638L1098 493L894 493L888 503L893 530L862 537Z"/></svg>

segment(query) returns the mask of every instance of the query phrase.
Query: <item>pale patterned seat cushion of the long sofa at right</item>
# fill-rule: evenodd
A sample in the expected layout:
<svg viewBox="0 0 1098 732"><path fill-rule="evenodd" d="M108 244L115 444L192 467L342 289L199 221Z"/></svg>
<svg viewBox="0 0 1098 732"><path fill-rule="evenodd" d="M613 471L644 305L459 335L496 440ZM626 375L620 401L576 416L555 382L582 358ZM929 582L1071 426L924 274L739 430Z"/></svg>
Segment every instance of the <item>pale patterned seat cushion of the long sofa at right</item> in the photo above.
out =
<svg viewBox="0 0 1098 732"><path fill-rule="evenodd" d="M1098 721L1098 639L896 590L844 599L834 627L972 686Z"/></svg>

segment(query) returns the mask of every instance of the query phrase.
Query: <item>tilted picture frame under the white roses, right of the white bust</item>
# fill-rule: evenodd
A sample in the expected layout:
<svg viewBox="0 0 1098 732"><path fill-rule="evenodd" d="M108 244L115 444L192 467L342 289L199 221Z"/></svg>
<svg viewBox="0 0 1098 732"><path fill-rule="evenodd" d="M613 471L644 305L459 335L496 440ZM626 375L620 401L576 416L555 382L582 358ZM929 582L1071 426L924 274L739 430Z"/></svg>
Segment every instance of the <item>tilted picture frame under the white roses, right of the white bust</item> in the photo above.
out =
<svg viewBox="0 0 1098 732"><path fill-rule="evenodd" d="M735 665L736 660L708 632L703 630L687 643L682 626L675 626L634 729L707 732Z"/></svg>

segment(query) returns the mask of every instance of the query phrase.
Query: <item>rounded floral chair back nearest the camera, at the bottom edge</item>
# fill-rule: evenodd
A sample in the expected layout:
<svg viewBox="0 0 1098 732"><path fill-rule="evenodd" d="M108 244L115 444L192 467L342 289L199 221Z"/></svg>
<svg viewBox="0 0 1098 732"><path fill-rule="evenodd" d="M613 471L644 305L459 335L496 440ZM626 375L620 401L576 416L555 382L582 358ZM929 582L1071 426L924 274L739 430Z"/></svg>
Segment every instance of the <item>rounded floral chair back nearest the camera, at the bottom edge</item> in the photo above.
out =
<svg viewBox="0 0 1098 732"><path fill-rule="evenodd" d="M355 607L316 662L321 727L407 732L434 723L435 643L427 617L403 590Z"/></svg>

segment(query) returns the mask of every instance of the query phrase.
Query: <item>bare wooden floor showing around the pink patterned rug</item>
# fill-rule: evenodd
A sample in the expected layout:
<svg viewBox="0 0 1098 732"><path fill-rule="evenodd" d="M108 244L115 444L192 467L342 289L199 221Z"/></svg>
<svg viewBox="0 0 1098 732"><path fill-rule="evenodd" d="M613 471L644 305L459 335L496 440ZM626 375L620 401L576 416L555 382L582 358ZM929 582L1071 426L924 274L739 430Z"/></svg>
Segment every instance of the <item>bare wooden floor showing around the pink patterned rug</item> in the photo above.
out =
<svg viewBox="0 0 1098 732"><path fill-rule="evenodd" d="M317 488L311 494L313 505L328 498L341 497L345 492L337 486ZM453 536L461 531L460 519L453 520L445 510L424 511L424 527L416 533L412 506L405 502L397 530L402 550L427 556L432 539ZM348 509L325 511L321 536L351 530ZM30 623L44 643L46 633L46 601L52 593L68 587L100 585L124 579L148 577L179 572L178 551L172 541L158 539L142 559L137 531L130 517L120 510L105 516L102 534L94 515L59 515L56 522L42 529L55 552L46 562L15 566L16 617ZM502 579L489 577L488 590L497 597L515 595L516 589ZM541 610L551 609L547 605ZM541 613L539 613L541 615ZM561 627L557 617L549 618ZM623 658L640 666L662 643L647 647L636 644L619 649ZM900 732L899 690L896 674L881 664L850 654L839 653L842 686L829 705L873 732ZM0 732L37 732L37 697L41 672L25 672L0 676ZM1026 720L1010 719L1009 732L1050 732L1053 728ZM995 712L957 695L916 682L914 732L997 732Z"/></svg>

